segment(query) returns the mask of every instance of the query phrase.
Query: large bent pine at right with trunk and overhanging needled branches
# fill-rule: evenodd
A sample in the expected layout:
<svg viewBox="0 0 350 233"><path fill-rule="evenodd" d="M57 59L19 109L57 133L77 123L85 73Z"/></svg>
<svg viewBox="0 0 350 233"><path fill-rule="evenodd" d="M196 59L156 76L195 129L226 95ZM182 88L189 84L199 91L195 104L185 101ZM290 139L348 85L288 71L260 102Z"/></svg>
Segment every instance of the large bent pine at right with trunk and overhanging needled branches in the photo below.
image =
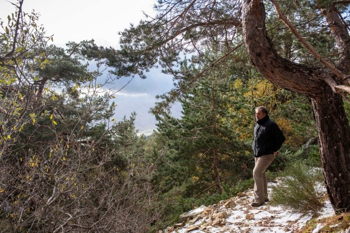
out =
<svg viewBox="0 0 350 233"><path fill-rule="evenodd" d="M120 50L101 51L114 54L106 63L120 76L145 77L155 66L172 74L176 86L161 96L166 103L216 67L240 61L245 48L244 61L263 77L312 100L329 195L336 210L348 211L350 147L342 142L350 139L343 105L350 80L349 3L160 0L156 17L121 32ZM206 52L213 47L221 51L215 59ZM198 68L190 74L181 69L185 56Z"/></svg>

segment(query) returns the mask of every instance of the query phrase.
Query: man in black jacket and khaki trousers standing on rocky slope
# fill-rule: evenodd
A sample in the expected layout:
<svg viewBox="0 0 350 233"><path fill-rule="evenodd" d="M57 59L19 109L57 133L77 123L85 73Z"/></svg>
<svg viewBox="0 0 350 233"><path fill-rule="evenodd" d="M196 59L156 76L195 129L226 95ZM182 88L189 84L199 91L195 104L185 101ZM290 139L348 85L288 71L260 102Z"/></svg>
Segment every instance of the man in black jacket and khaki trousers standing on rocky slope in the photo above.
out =
<svg viewBox="0 0 350 233"><path fill-rule="evenodd" d="M265 107L255 109L256 125L252 144L255 156L254 201L252 206L261 206L268 201L266 169L278 154L285 137L279 126L269 118Z"/></svg>

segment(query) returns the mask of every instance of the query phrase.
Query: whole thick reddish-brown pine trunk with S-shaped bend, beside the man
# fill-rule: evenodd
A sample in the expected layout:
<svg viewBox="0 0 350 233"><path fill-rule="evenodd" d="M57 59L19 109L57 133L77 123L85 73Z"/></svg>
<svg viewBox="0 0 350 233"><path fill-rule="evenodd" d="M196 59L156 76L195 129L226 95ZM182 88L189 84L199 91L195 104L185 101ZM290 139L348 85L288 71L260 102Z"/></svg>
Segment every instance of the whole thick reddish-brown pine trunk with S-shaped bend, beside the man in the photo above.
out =
<svg viewBox="0 0 350 233"><path fill-rule="evenodd" d="M327 68L293 63L277 54L267 36L261 0L244 0L243 34L253 65L266 79L311 98L328 195L336 212L349 212L350 127L341 96L325 82L339 79ZM342 61L341 68L347 67Z"/></svg>

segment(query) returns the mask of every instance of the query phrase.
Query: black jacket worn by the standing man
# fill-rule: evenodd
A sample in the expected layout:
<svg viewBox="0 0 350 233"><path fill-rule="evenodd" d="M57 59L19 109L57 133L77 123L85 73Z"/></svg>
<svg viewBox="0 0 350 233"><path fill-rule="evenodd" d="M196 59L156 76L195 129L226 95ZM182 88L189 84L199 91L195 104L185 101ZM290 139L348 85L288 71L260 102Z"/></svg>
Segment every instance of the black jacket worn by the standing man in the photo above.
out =
<svg viewBox="0 0 350 233"><path fill-rule="evenodd" d="M254 141L252 144L254 156L260 157L265 154L272 154L280 149L285 137L278 125L265 116L258 120L254 127Z"/></svg>

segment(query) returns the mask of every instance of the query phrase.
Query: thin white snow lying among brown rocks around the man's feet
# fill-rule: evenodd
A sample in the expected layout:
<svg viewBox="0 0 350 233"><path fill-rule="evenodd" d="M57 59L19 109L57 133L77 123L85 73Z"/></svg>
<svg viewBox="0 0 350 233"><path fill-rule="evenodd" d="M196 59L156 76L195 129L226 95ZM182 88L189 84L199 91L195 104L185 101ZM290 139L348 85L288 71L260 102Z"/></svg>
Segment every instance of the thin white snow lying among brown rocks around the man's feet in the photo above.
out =
<svg viewBox="0 0 350 233"><path fill-rule="evenodd" d="M274 185L276 183L268 184L269 193ZM194 223L186 222L181 227L168 228L164 233L295 233L312 218L311 214L302 215L283 206L272 206L269 202L253 207L251 206L253 197L253 191L247 190L244 197L231 199L236 206L226 208L223 203L209 206L210 211L207 211L208 214L202 214L203 218ZM215 222L213 216L223 212L227 217ZM319 218L334 215L331 203L326 201ZM314 232L318 232L317 229Z"/></svg>

